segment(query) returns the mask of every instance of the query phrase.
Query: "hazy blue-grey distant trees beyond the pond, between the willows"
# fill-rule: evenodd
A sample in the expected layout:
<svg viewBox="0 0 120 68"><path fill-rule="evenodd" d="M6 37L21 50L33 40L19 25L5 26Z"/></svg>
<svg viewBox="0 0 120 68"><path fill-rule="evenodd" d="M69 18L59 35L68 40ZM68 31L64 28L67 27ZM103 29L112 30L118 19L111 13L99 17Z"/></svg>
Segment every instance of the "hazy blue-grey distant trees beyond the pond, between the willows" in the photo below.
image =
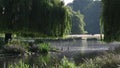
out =
<svg viewBox="0 0 120 68"><path fill-rule="evenodd" d="M100 13L101 13L101 2L93 0L74 0L73 3L69 4L74 11L80 11L84 15L85 30L89 34L100 33Z"/></svg>

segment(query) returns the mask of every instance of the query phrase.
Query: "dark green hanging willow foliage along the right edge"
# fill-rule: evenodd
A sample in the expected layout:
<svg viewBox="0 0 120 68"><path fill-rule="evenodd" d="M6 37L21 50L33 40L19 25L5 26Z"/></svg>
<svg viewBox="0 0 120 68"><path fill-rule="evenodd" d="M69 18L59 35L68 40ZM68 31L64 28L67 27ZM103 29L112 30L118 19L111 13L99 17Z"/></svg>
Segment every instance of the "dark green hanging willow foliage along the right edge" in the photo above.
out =
<svg viewBox="0 0 120 68"><path fill-rule="evenodd" d="M120 0L102 0L104 40L120 41Z"/></svg>

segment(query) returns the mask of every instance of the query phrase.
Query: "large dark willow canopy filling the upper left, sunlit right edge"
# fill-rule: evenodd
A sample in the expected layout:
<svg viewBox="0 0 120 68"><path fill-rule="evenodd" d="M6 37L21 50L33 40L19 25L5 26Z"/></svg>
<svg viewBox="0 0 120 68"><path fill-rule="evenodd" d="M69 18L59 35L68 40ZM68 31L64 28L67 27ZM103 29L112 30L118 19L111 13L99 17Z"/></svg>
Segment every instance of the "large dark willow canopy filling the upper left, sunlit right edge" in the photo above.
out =
<svg viewBox="0 0 120 68"><path fill-rule="evenodd" d="M2 4L1 32L46 36L70 32L70 16L60 0L2 0Z"/></svg>

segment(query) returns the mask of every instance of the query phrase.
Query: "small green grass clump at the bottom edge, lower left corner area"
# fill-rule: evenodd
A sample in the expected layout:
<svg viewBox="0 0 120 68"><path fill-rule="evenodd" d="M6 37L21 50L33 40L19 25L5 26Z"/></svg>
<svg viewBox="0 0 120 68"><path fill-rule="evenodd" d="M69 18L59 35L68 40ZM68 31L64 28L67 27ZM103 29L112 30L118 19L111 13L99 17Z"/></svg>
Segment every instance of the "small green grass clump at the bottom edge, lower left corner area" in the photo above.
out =
<svg viewBox="0 0 120 68"><path fill-rule="evenodd" d="M18 63L9 64L8 68L30 68L30 65L25 64L22 61L19 61Z"/></svg>

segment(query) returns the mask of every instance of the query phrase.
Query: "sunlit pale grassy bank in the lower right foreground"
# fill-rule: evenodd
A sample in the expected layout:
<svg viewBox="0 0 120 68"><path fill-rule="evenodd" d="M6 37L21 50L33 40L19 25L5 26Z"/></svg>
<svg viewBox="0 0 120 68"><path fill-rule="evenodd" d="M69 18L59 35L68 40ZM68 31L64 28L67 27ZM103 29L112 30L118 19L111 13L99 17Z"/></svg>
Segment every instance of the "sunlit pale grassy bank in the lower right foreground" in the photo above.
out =
<svg viewBox="0 0 120 68"><path fill-rule="evenodd" d="M90 55L90 54L89 54ZM120 47L114 51L105 52L94 58L84 58L83 62L76 65L64 57L57 68L119 68L120 67ZM55 67L56 68L56 67Z"/></svg>

